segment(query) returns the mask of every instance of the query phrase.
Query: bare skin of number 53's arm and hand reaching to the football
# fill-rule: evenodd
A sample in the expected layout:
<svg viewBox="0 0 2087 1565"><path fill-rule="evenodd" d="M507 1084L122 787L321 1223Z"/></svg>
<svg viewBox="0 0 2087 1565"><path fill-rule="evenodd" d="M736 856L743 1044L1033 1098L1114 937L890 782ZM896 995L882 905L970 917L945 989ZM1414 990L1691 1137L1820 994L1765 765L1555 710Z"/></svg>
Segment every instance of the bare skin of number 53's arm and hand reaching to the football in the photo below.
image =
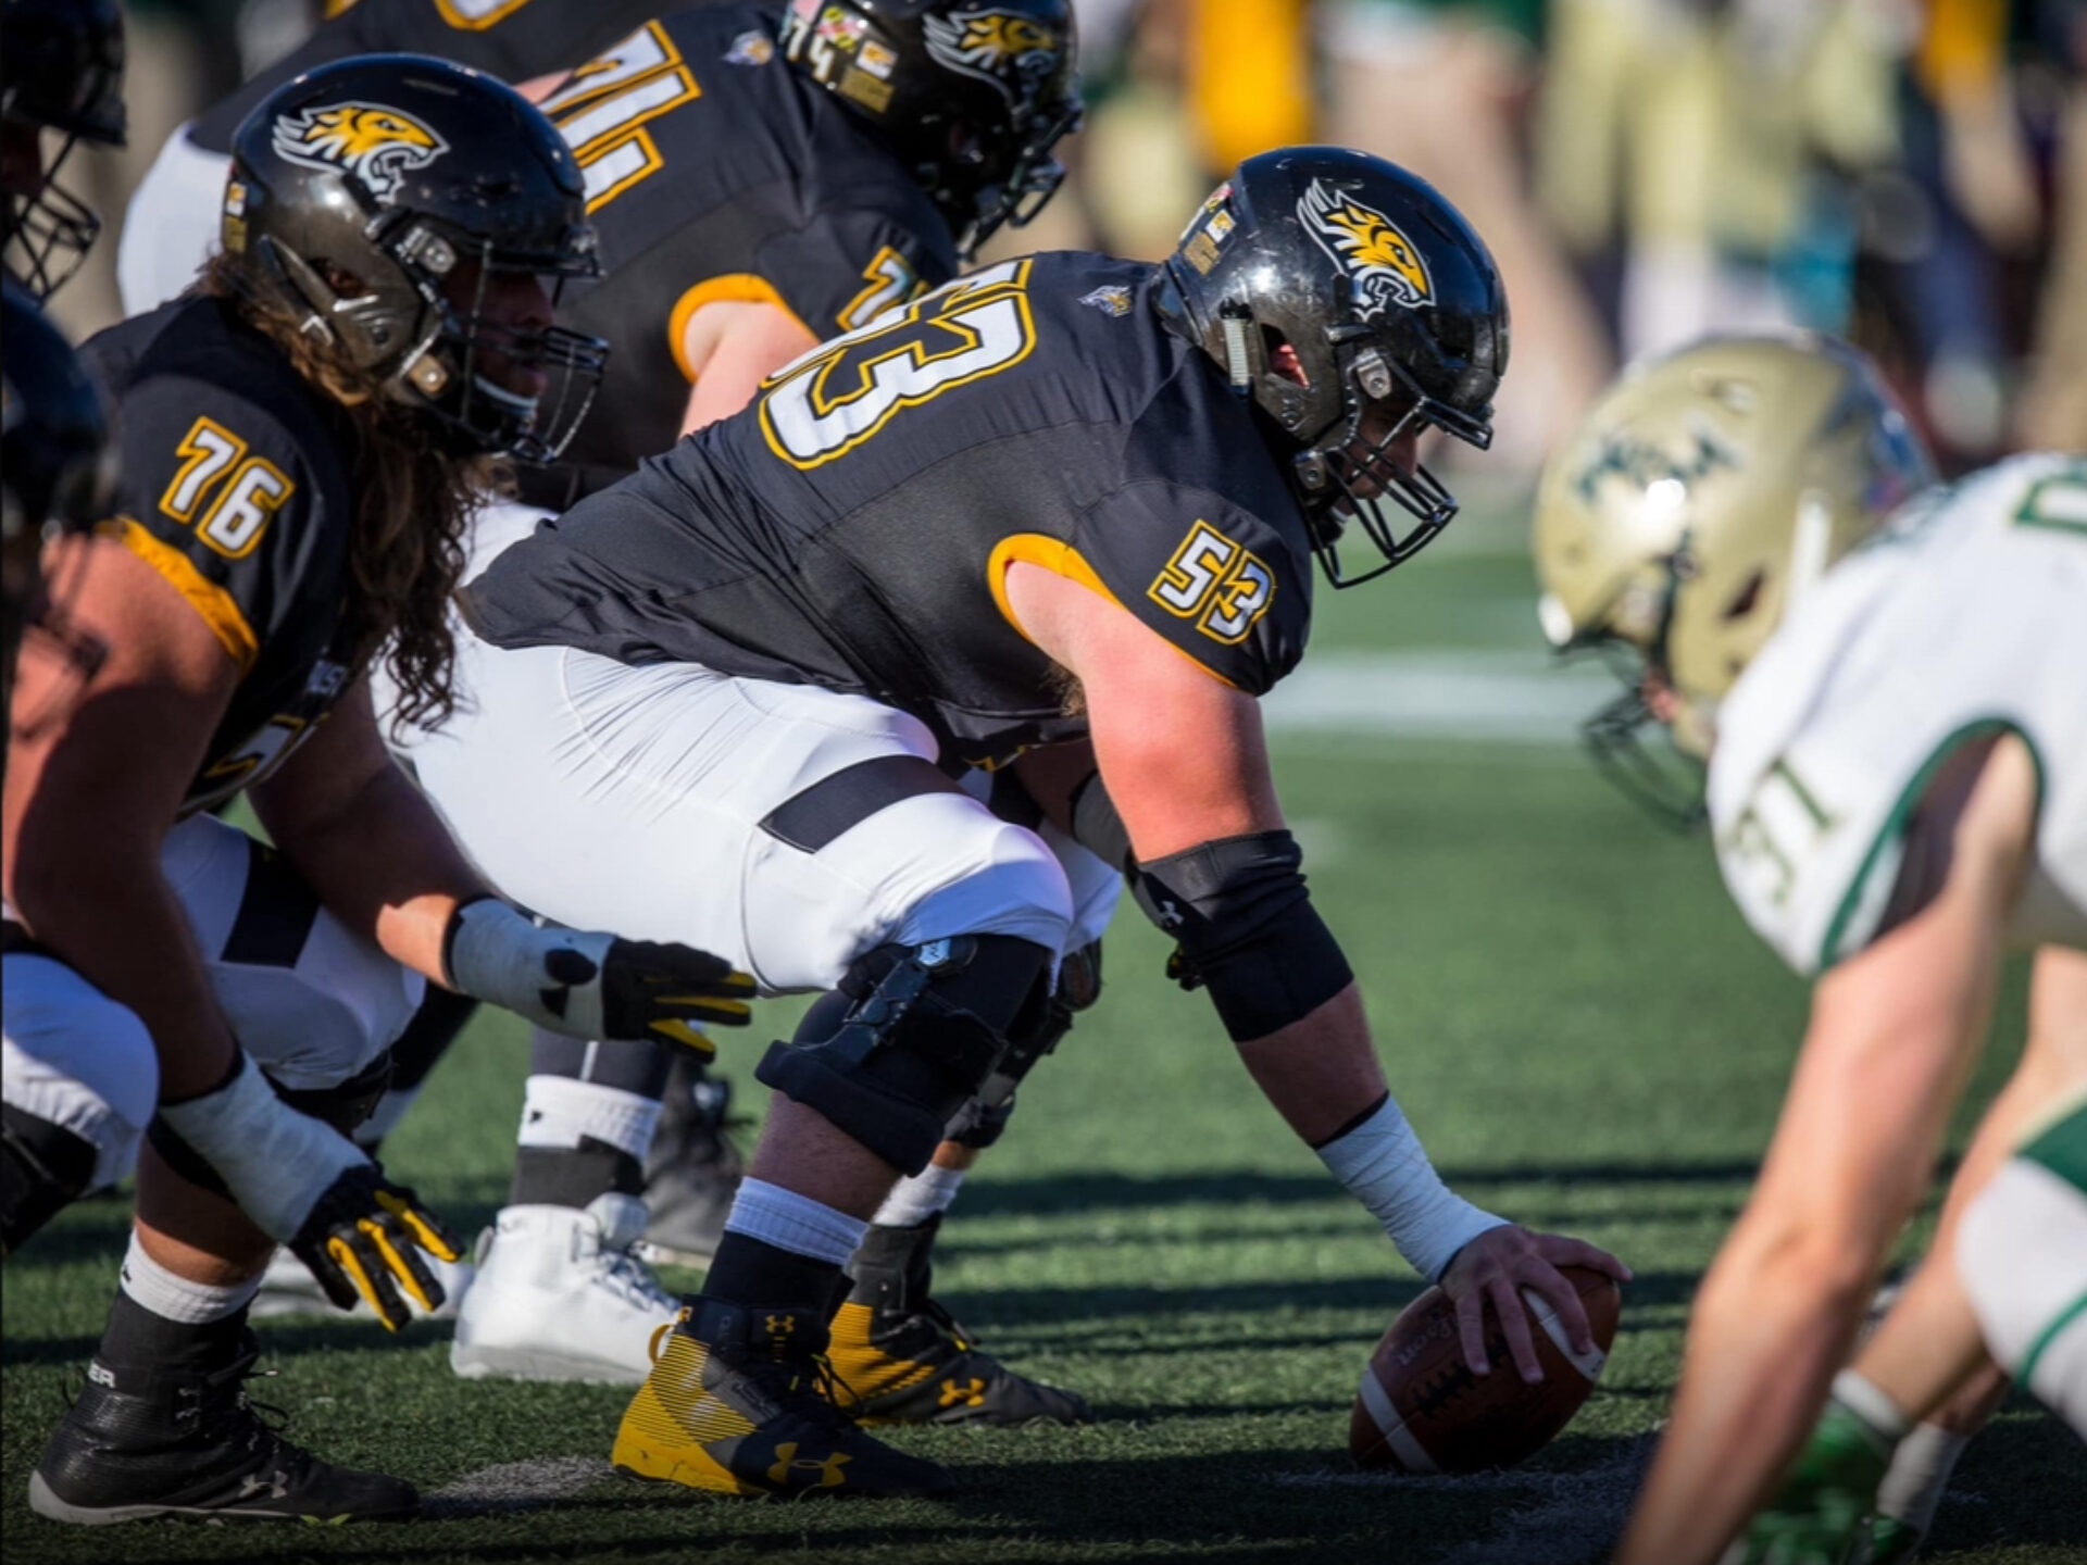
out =
<svg viewBox="0 0 2087 1565"><path fill-rule="evenodd" d="M1008 572L1008 603L1023 632L1081 680L1094 751L1140 862L1284 828L1252 697L1213 678L1121 607L1037 565ZM1254 1083L1313 1148L1388 1104L1354 983L1238 1048ZM1557 1271L1561 1265L1630 1275L1588 1244L1498 1221L1455 1252L1440 1281L1457 1298L1465 1356L1476 1371L1490 1369L1484 1308L1492 1302L1515 1367L1524 1379L1542 1377L1519 1287L1553 1304L1578 1350L1592 1342L1578 1292Z"/></svg>

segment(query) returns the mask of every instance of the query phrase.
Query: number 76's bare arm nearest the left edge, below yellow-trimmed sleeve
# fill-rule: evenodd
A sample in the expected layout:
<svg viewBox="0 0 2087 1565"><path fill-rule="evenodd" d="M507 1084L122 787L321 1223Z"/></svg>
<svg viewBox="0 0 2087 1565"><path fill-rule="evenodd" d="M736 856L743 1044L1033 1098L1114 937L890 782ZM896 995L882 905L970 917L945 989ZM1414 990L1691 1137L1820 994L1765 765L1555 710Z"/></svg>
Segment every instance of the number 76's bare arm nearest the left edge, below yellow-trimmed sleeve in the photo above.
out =
<svg viewBox="0 0 2087 1565"><path fill-rule="evenodd" d="M236 1043L159 851L238 666L121 543L69 538L50 568L75 574L73 622L106 657L86 699L67 703L71 664L50 645L23 647L15 709L58 716L8 755L6 895L38 941L138 1012L161 1093L192 1098L225 1079Z"/></svg>

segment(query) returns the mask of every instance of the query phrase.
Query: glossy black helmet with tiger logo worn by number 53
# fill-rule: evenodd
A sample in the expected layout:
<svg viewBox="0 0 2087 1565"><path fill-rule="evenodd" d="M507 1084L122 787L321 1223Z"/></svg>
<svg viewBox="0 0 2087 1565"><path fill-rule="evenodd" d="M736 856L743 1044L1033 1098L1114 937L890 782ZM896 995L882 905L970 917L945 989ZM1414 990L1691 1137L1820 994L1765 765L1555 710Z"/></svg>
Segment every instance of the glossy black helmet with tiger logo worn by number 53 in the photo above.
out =
<svg viewBox="0 0 2087 1565"><path fill-rule="evenodd" d="M1292 453L1292 484L1334 586L1405 563L1457 515L1457 497L1392 447L1428 428L1478 449L1492 442L1507 290L1484 242L1432 186L1365 152L1263 152L1190 221L1154 303ZM1400 532L1386 499L1417 526ZM1350 522L1384 563L1344 568Z"/></svg>

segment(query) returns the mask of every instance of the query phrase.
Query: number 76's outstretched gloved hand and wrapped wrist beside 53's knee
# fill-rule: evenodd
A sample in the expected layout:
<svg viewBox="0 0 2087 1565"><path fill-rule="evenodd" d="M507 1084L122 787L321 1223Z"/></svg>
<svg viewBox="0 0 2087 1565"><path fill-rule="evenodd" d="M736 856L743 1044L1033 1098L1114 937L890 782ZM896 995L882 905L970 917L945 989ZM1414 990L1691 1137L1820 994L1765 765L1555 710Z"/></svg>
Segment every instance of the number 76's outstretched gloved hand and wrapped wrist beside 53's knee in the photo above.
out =
<svg viewBox="0 0 2087 1565"><path fill-rule="evenodd" d="M753 979L693 945L538 929L497 897L470 901L449 926L453 987L572 1037L666 1039L716 1048L699 1027L745 1027Z"/></svg>

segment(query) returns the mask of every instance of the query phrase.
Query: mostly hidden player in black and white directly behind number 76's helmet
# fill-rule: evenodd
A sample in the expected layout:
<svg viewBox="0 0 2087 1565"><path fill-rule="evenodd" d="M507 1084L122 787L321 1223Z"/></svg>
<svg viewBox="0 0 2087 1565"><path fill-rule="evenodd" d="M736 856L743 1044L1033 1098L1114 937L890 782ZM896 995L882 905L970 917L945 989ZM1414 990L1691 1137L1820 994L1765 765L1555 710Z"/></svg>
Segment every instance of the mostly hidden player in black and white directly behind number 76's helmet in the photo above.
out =
<svg viewBox="0 0 2087 1565"><path fill-rule="evenodd" d="M353 54L432 54L534 98L574 63L659 15L659 0L355 0L326 10L311 38L167 138L131 192L117 242L125 313L165 305L217 250L232 134L292 77Z"/></svg>

